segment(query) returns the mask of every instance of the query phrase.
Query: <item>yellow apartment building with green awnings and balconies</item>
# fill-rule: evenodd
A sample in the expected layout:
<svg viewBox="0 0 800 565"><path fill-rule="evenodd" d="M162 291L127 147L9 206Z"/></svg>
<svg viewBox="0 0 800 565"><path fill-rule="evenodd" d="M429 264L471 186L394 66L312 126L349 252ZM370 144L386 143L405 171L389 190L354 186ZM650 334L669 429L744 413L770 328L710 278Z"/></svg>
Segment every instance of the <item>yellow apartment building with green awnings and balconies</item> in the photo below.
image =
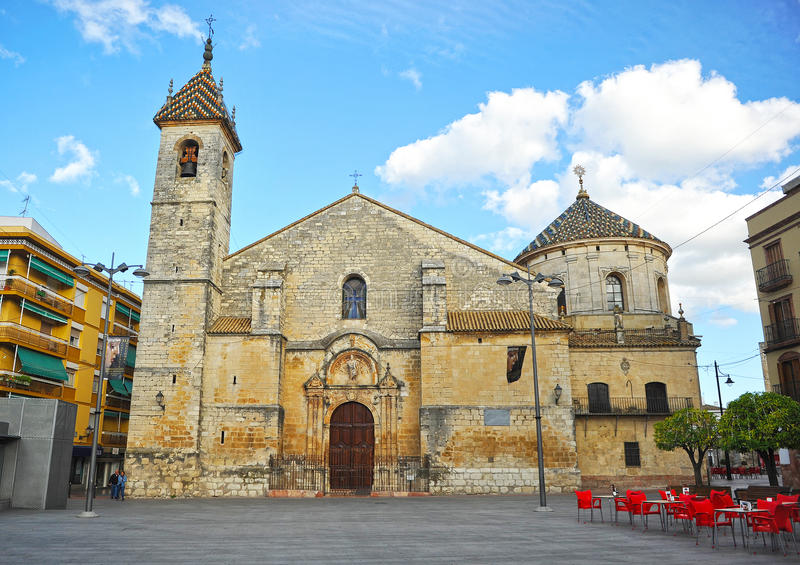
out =
<svg viewBox="0 0 800 565"><path fill-rule="evenodd" d="M97 480L104 485L127 443L141 299L114 284L109 308L108 279L95 271L75 276L80 264L33 218L0 217L0 396L78 406L70 481L85 486L99 390ZM109 335L130 340L120 369L101 383L107 313Z"/></svg>

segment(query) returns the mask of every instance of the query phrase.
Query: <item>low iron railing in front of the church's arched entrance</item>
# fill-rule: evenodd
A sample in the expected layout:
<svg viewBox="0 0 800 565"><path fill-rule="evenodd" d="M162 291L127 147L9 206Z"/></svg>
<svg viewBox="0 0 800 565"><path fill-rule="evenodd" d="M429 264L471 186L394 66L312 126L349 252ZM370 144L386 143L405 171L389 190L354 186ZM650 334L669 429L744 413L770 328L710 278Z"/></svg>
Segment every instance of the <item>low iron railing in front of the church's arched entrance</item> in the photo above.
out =
<svg viewBox="0 0 800 565"><path fill-rule="evenodd" d="M432 468L422 457L377 459L371 466L330 466L322 459L304 455L273 455L269 459L269 488L323 493L428 492L431 479L441 472L443 469ZM334 474L337 488L331 487ZM348 483L353 488L347 488Z"/></svg>

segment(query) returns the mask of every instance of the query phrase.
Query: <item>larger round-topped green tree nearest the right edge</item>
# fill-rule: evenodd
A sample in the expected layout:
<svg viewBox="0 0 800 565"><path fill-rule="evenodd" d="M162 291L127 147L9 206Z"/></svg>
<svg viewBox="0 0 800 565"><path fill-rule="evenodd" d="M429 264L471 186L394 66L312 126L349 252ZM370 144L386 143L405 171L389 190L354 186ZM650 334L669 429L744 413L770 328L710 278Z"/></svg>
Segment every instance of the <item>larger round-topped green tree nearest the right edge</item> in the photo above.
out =
<svg viewBox="0 0 800 565"><path fill-rule="evenodd" d="M758 453L777 486L775 450L800 448L800 404L775 392L747 392L728 404L719 429L722 447Z"/></svg>

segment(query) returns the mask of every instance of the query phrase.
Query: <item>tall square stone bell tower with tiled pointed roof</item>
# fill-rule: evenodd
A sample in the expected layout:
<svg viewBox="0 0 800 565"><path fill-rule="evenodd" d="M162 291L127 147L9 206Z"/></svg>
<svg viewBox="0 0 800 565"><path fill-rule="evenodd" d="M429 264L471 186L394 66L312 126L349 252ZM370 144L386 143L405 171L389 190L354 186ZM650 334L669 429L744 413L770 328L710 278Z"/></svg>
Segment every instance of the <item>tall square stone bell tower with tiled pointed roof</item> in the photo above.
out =
<svg viewBox="0 0 800 565"><path fill-rule="evenodd" d="M228 254L234 107L211 74L211 29L200 71L153 121L161 130L131 400L126 465L133 493L190 494L199 468L205 331L221 302Z"/></svg>

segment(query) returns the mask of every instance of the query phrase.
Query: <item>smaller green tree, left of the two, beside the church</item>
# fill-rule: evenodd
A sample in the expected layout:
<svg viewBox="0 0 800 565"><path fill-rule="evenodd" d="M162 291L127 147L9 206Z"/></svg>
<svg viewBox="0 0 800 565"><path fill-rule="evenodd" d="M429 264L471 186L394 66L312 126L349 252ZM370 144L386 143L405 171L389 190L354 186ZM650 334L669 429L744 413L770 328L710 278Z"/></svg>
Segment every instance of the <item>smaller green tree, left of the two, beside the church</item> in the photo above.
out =
<svg viewBox="0 0 800 565"><path fill-rule="evenodd" d="M689 455L694 469L694 482L703 484L700 473L706 452L717 445L717 419L699 408L678 410L663 422L653 426L656 447L663 451L683 449Z"/></svg>

